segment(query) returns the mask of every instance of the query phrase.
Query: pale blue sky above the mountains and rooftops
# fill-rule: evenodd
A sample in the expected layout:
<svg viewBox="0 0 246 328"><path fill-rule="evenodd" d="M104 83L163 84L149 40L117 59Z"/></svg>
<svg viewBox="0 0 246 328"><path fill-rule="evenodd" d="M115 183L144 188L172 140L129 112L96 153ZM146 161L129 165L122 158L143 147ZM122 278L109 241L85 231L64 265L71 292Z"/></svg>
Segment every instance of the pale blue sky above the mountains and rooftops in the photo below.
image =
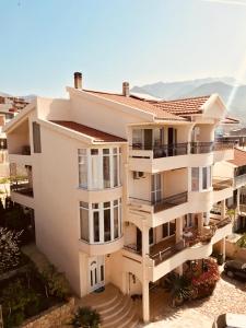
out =
<svg viewBox="0 0 246 328"><path fill-rule="evenodd" d="M0 0L0 91L243 75L246 0ZM246 79L245 79L246 81Z"/></svg>

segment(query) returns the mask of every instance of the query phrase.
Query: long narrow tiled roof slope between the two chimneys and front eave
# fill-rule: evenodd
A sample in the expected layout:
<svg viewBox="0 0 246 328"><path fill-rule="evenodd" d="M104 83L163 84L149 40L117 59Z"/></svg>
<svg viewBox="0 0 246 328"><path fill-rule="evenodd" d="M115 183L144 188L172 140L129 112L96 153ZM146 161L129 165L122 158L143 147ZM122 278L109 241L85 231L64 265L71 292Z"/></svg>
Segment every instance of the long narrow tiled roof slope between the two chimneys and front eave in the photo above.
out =
<svg viewBox="0 0 246 328"><path fill-rule="evenodd" d="M96 95L98 97L113 101L116 103L120 103L126 106L134 107L137 109L151 113L155 115L156 119L165 119L165 120L185 120L183 117L178 117L167 110L163 110L164 108L159 108L159 106L155 106L155 104L152 104L150 101L147 99L140 99L136 96L124 96L122 94L113 94L113 93L106 93L106 92L96 92L96 91L90 91L90 90L83 90L84 92Z"/></svg>

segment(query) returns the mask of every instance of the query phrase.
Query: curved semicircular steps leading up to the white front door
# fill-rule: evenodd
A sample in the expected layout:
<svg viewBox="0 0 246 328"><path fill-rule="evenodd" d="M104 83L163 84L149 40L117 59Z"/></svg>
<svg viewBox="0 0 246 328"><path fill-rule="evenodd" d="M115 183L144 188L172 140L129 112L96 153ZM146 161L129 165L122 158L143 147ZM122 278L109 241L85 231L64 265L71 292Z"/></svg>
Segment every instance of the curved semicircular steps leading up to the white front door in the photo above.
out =
<svg viewBox="0 0 246 328"><path fill-rule="evenodd" d="M139 327L139 317L131 297L124 295L113 284L107 284L104 292L92 293L81 298L78 306L96 309L101 315L102 328Z"/></svg>

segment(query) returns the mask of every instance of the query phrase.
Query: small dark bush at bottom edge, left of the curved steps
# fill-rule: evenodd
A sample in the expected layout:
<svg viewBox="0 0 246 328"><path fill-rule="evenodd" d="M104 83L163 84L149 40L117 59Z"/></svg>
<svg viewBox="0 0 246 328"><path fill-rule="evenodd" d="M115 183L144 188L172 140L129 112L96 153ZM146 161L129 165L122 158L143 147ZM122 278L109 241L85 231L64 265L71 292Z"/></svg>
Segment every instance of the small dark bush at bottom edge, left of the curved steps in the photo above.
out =
<svg viewBox="0 0 246 328"><path fill-rule="evenodd" d="M79 307L71 321L73 327L98 328L101 323L99 314L90 307Z"/></svg>

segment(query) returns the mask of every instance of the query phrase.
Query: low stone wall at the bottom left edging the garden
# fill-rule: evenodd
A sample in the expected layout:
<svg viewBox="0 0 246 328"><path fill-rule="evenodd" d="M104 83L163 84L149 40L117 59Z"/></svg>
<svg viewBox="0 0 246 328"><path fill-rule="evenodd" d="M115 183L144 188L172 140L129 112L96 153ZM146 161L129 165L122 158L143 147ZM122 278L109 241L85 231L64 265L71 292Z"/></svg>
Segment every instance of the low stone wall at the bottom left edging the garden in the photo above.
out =
<svg viewBox="0 0 246 328"><path fill-rule="evenodd" d="M66 327L71 319L74 309L74 298L70 298L68 303L56 305L39 315L25 320L22 328L58 328Z"/></svg>

